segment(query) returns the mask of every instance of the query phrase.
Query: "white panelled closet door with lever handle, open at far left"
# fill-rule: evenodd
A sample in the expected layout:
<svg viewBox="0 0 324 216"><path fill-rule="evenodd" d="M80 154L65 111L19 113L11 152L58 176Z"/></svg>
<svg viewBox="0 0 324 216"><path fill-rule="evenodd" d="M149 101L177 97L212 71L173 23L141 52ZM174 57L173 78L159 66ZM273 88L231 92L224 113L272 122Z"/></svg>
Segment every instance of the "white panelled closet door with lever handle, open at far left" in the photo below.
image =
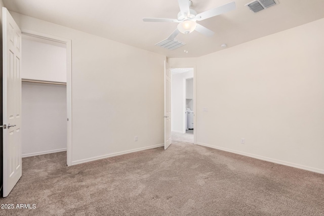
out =
<svg viewBox="0 0 324 216"><path fill-rule="evenodd" d="M21 177L21 31L6 8L3 20L3 196Z"/></svg>

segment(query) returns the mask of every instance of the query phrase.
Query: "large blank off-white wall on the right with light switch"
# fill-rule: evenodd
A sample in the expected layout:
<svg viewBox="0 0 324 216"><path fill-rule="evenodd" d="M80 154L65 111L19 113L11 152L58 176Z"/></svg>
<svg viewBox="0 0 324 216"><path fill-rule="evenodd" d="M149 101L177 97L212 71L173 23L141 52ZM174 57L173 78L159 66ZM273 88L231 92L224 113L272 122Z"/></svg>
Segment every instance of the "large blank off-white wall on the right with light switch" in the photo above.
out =
<svg viewBox="0 0 324 216"><path fill-rule="evenodd" d="M324 173L322 38L324 19L197 58L196 142Z"/></svg>

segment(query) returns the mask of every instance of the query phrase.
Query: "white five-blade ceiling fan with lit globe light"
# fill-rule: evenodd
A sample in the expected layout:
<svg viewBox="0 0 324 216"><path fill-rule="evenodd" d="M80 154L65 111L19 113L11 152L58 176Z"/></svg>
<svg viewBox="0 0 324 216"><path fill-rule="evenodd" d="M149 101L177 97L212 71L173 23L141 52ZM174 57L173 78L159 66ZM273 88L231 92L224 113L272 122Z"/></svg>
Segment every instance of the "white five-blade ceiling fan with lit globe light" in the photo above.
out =
<svg viewBox="0 0 324 216"><path fill-rule="evenodd" d="M191 0L178 0L180 12L178 13L178 19L164 19L164 18L143 18L144 22L176 22L179 23L177 29L168 37L169 40L173 40L180 32L183 34L189 34L193 30L198 31L201 34L212 36L215 32L200 25L197 21L205 20L220 14L224 14L235 9L235 2L231 2L220 7L205 11L197 14L193 9L190 9L192 4Z"/></svg>

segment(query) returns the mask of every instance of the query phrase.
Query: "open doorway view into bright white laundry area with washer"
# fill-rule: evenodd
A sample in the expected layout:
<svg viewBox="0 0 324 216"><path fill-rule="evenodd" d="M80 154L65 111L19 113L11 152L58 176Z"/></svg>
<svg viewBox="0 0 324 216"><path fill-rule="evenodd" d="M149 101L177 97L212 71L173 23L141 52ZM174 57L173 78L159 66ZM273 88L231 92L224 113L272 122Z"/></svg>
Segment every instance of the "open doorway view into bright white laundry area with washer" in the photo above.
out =
<svg viewBox="0 0 324 216"><path fill-rule="evenodd" d="M172 140L194 143L194 68L172 68Z"/></svg>

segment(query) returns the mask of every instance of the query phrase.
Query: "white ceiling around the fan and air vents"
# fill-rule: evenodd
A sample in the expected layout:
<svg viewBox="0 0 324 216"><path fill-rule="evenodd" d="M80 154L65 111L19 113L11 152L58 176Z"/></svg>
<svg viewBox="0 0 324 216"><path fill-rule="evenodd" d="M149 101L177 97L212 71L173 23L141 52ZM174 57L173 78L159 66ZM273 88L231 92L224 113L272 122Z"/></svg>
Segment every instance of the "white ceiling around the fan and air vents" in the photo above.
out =
<svg viewBox="0 0 324 216"><path fill-rule="evenodd" d="M197 13L232 0L192 0ZM177 0L3 0L10 11L106 37L168 57L199 57L223 48L324 18L324 0L278 0L279 4L254 14L236 0L234 11L198 22L216 32L207 37L194 31L176 39L185 46L174 51L154 46L166 39L177 23L143 22L143 17L177 18ZM187 50L188 53L185 53Z"/></svg>

